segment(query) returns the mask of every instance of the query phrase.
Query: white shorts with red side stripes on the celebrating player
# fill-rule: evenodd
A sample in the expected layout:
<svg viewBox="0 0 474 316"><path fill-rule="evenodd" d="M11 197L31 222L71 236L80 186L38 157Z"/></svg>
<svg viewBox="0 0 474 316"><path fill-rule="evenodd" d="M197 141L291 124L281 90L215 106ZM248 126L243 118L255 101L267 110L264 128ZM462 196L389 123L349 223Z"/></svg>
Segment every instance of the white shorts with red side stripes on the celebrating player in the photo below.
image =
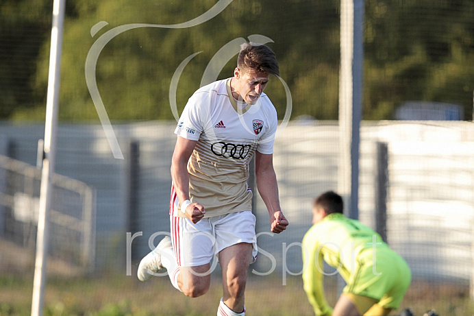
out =
<svg viewBox="0 0 474 316"><path fill-rule="evenodd" d="M214 255L237 243L253 245L252 263L257 258L255 216L250 211L205 217L197 223L170 215L171 241L180 267L210 263Z"/></svg>

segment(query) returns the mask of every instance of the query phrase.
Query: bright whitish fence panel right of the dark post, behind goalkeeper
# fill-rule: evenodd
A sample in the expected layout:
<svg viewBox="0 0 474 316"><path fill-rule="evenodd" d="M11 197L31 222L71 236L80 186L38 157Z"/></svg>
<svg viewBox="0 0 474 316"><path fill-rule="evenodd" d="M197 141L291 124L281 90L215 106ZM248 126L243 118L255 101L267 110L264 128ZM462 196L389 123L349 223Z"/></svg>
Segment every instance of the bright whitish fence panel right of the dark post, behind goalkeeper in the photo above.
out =
<svg viewBox="0 0 474 316"><path fill-rule="evenodd" d="M473 154L472 144L390 145L388 241L416 276L474 277Z"/></svg>

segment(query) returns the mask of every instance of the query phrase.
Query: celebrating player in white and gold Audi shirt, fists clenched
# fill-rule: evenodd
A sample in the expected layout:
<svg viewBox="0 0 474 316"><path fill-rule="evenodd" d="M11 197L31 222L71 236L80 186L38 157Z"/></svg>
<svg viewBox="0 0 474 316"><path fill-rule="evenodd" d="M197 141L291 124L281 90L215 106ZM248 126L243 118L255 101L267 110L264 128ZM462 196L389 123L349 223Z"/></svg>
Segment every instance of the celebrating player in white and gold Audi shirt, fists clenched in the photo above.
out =
<svg viewBox="0 0 474 316"><path fill-rule="evenodd" d="M234 77L199 88L184 108L171 164L171 238L138 267L140 280L165 267L176 289L198 297L210 287L216 254L223 274L218 316L245 315L247 269L258 252L247 185L253 156L271 231L288 226L273 169L277 112L263 93L270 75L279 75L278 63L265 45L241 48Z"/></svg>

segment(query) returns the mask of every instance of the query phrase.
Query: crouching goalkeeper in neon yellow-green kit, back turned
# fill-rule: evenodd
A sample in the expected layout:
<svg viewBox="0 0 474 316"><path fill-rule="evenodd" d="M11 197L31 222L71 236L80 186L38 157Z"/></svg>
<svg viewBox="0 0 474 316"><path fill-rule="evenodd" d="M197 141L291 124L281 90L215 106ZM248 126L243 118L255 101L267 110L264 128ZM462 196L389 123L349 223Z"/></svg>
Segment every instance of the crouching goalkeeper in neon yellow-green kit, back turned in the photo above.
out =
<svg viewBox="0 0 474 316"><path fill-rule="evenodd" d="M314 200L313 226L303 238L303 284L316 315L382 316L399 307L411 272L399 254L360 221L342 215L342 197ZM334 311L323 289L323 259L347 282Z"/></svg>

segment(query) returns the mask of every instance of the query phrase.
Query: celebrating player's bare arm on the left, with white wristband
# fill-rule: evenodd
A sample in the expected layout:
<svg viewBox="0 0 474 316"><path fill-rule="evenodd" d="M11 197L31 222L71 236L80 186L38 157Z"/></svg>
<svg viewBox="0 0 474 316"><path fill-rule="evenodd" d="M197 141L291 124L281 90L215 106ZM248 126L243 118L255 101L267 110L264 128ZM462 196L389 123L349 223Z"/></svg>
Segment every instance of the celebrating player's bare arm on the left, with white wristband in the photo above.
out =
<svg viewBox="0 0 474 316"><path fill-rule="evenodd" d="M179 206L189 198L188 160L195 149L197 141L177 136L175 151L171 159L171 178L179 199ZM199 203L191 203L186 208L186 217L197 223L205 214L204 207Z"/></svg>

